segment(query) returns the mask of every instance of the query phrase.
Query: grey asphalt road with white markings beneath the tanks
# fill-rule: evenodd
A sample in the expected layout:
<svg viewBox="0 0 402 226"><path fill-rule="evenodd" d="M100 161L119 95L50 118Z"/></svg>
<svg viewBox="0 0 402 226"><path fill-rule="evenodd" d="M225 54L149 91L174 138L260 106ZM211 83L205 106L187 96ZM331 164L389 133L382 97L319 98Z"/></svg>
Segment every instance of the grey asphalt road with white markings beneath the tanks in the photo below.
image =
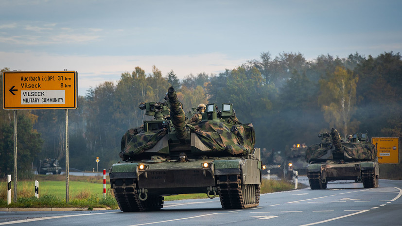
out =
<svg viewBox="0 0 402 226"><path fill-rule="evenodd" d="M192 199L167 201L157 212L0 212L0 225L398 226L402 225L401 196L398 180L380 180L373 189L364 189L361 183L331 182L326 190L262 194L260 206L251 209L224 210L219 198Z"/></svg>

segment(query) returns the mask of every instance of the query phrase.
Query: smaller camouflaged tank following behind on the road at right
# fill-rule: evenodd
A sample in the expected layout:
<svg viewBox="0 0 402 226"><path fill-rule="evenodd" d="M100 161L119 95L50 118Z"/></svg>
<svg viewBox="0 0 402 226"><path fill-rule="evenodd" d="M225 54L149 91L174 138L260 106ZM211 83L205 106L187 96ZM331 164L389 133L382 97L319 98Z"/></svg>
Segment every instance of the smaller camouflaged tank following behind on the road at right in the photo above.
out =
<svg viewBox="0 0 402 226"><path fill-rule="evenodd" d="M311 189L325 189L328 181L355 180L365 188L378 187L377 149L367 134L354 134L350 141L341 140L336 129L319 134L321 143L306 150L307 176Z"/></svg>

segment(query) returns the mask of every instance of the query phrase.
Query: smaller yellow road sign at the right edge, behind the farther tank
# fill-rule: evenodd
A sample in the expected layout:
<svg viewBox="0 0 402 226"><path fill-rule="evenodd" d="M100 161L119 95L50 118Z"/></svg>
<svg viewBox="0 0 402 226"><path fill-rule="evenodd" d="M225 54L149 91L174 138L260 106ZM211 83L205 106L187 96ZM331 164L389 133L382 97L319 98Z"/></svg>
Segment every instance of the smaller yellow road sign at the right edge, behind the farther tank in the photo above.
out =
<svg viewBox="0 0 402 226"><path fill-rule="evenodd" d="M377 147L379 163L399 163L399 138L377 137L371 143Z"/></svg>

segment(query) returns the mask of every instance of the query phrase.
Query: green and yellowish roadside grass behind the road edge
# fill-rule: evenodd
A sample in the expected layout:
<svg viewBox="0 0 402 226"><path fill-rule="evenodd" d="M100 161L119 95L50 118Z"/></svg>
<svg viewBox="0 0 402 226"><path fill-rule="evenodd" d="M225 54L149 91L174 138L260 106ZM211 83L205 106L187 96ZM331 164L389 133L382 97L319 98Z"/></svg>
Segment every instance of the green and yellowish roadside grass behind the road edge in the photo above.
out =
<svg viewBox="0 0 402 226"><path fill-rule="evenodd" d="M33 175L29 178L19 179L17 183L17 203L11 201L7 205L7 182L0 181L0 208L13 207L75 207L75 208L110 208L118 209L113 190L110 189L110 181L106 178L106 195L103 197L102 176L70 176L69 177L69 202L66 202L65 175ZM35 180L39 181L39 199L35 197ZM298 184L298 188L307 187ZM295 185L286 180L262 180L261 193L294 190ZM13 182L11 183L13 197ZM208 198L207 194L179 194L165 196L165 201L182 199Z"/></svg>

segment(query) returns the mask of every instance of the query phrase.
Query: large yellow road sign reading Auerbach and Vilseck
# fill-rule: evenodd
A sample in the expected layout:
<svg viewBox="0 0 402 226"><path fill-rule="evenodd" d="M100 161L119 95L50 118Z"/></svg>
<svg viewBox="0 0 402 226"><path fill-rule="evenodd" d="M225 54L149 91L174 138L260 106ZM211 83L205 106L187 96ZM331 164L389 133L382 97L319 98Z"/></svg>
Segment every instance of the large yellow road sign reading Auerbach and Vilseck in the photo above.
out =
<svg viewBox="0 0 402 226"><path fill-rule="evenodd" d="M77 71L4 71L4 109L75 109Z"/></svg>

